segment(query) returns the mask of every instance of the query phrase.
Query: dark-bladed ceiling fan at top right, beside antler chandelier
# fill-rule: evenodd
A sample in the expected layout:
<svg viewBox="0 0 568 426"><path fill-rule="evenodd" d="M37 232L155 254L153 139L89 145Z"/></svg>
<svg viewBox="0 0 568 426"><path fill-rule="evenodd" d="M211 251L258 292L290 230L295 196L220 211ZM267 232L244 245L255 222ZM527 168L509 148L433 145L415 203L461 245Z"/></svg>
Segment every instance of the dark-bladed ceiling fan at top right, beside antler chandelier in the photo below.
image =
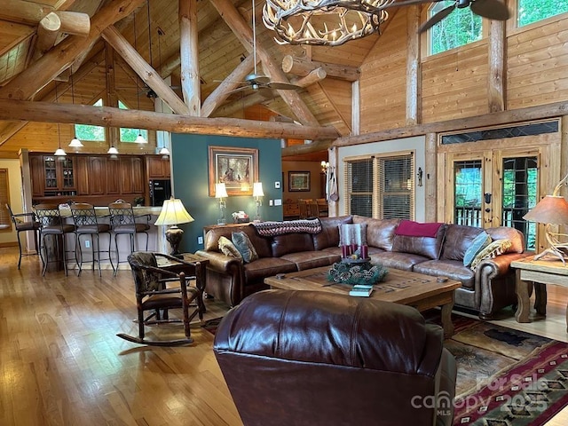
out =
<svg viewBox="0 0 568 426"><path fill-rule="evenodd" d="M390 7L421 3L438 3L441 1L443 0L403 0L390 4ZM430 20L424 22L420 28L418 28L418 33L423 33L432 28L438 24L439 21L445 19L450 13L454 12L454 9L463 9L464 7L469 7L471 12L489 20L509 20L511 15L507 4L504 4L501 0L455 0L454 4L447 6L432 16Z"/></svg>

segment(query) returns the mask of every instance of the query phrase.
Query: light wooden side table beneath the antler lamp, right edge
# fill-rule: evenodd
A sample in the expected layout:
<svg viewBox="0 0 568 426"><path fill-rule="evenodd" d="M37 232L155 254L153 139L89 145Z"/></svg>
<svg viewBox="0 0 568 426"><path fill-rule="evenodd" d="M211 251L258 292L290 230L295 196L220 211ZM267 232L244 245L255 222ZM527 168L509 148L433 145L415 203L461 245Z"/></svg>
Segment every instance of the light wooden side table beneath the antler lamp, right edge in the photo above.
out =
<svg viewBox="0 0 568 426"><path fill-rule="evenodd" d="M534 260L533 256L511 262L517 269L517 322L530 322L529 292L534 282L534 308L540 315L547 314L547 284L568 288L568 265L559 260ZM568 306L566 306L566 332L568 332Z"/></svg>

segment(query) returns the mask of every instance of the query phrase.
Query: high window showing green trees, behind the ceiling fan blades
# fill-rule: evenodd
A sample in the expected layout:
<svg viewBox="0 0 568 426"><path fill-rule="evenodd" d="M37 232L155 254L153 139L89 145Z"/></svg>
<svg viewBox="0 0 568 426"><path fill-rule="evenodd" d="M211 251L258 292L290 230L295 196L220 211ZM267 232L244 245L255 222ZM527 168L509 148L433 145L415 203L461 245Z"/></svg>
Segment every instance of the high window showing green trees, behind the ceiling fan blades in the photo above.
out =
<svg viewBox="0 0 568 426"><path fill-rule="evenodd" d="M438 2L430 6L428 18L446 7L455 4L454 1ZM464 44L481 40L481 17L471 12L469 7L457 7L446 18L430 28L430 54L449 51Z"/></svg>

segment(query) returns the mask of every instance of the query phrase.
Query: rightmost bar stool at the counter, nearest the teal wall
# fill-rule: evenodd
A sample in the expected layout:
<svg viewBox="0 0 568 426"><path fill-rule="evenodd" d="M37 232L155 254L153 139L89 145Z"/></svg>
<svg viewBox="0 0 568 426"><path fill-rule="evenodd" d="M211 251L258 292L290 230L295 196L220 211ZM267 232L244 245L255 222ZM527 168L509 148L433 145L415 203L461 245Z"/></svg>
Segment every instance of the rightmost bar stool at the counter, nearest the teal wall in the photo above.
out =
<svg viewBox="0 0 568 426"><path fill-rule="evenodd" d="M121 263L120 250L118 249L118 236L130 235L130 253L134 252L134 240L137 233L146 234L146 251L148 251L148 233L150 229L150 215L134 216L132 204L126 201L115 201L108 205L110 212L110 226L114 233L114 248L116 248L116 268L114 276L118 272L118 265ZM146 217L146 223L136 222L137 217ZM127 262L127 260L124 260Z"/></svg>

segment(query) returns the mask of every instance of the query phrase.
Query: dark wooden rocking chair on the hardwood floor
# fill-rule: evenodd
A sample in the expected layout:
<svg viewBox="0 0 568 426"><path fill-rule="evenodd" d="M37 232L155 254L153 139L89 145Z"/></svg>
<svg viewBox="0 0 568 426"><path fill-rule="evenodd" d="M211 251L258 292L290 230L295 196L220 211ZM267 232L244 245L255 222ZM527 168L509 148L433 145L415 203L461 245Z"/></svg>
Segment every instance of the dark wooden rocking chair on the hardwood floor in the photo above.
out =
<svg viewBox="0 0 568 426"><path fill-rule="evenodd" d="M156 256L162 256L172 264L185 264L186 269L194 275L185 275L185 272L171 272L158 267ZM138 251L128 256L128 262L132 269L132 277L136 290L136 304L138 308L138 337L117 334L124 340L133 343L148 344L154 346L175 346L192 343L190 322L197 314L203 319L203 300L201 290L198 288L202 280L201 268L191 262L185 262L174 256L162 253ZM196 287L190 286L189 282L196 280ZM176 287L167 287L167 283L178 282ZM190 309L193 312L190 313ZM170 319L170 309L181 309L182 319ZM150 313L145 317L145 312ZM145 327L155 324L183 322L185 338L175 340L147 340Z"/></svg>

